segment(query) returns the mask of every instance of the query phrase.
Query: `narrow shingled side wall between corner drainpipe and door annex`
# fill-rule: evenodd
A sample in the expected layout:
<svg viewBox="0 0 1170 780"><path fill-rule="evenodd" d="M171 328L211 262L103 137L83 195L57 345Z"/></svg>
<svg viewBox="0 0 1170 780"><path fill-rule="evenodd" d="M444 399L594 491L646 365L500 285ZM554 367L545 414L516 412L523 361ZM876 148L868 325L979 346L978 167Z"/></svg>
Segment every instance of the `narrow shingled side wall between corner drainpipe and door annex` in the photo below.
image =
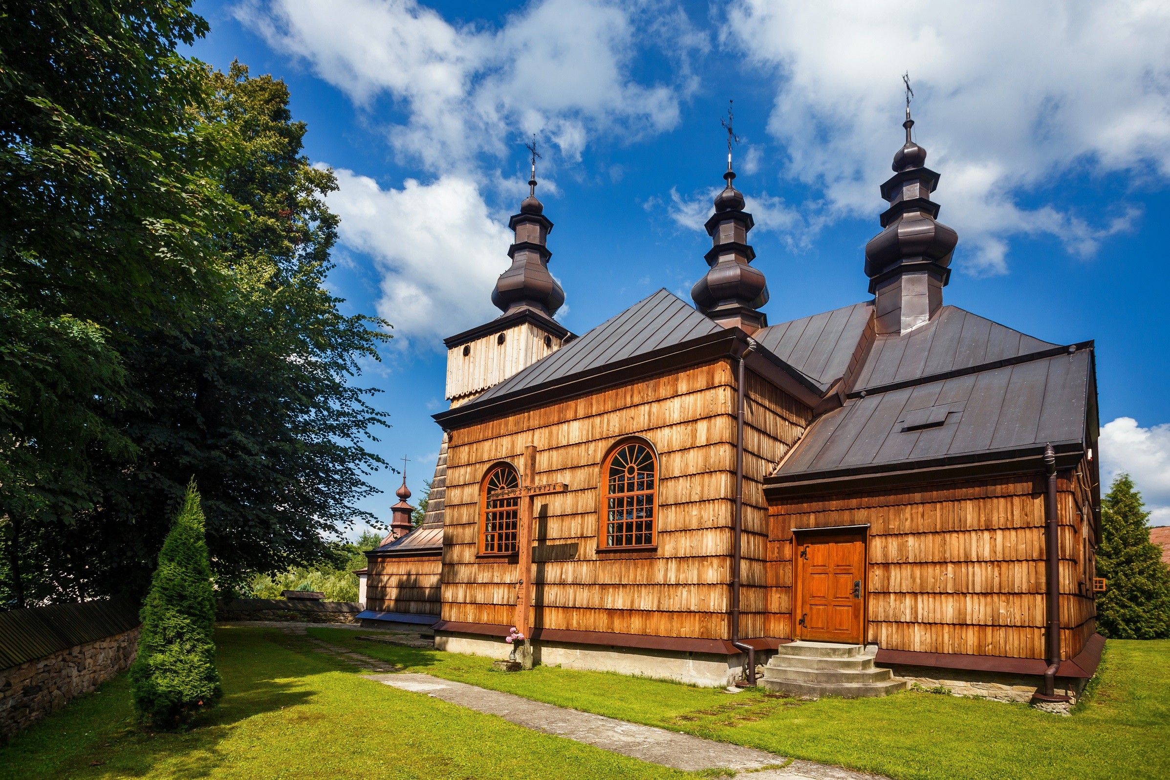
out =
<svg viewBox="0 0 1170 780"><path fill-rule="evenodd" d="M812 422L812 409L752 372L746 375L743 436L743 562L739 635L787 636L790 609L778 615L776 588L769 587L768 499L764 477L772 472Z"/></svg>

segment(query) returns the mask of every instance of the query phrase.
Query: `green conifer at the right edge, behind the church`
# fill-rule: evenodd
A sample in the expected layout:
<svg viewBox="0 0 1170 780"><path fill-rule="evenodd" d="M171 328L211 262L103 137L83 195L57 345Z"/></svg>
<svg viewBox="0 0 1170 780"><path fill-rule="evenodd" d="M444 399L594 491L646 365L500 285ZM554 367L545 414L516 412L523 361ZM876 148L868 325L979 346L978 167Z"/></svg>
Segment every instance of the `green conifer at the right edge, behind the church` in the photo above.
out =
<svg viewBox="0 0 1170 780"><path fill-rule="evenodd" d="M1097 596L1097 630L1123 640L1170 637L1170 568L1162 548L1150 541L1142 493L1128 474L1114 479L1101 502L1097 577L1106 592Z"/></svg>

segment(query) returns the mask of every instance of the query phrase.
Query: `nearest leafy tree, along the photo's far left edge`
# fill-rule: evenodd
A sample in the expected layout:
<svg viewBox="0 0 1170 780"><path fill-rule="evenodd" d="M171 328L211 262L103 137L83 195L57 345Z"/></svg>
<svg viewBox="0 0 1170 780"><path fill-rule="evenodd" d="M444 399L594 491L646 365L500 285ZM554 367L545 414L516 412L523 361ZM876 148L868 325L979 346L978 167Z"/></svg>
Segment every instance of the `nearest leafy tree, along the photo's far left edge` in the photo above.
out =
<svg viewBox="0 0 1170 780"><path fill-rule="evenodd" d="M188 4L0 1L0 518L9 603L76 594L56 539L126 462L128 327L181 329L234 214L192 106L207 81L176 54ZM47 573L55 570L51 575ZM29 579L32 578L32 579Z"/></svg>

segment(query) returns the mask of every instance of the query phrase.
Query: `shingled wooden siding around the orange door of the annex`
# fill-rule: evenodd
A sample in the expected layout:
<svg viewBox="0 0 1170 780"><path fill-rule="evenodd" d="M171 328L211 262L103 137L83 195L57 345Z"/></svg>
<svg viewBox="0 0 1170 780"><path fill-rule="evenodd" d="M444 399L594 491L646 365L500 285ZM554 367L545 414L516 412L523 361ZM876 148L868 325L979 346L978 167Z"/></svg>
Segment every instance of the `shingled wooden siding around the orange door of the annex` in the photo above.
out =
<svg viewBox="0 0 1170 780"><path fill-rule="evenodd" d="M1042 488L1039 475L1019 475L776 501L769 512L769 580L778 592L777 612L792 609L793 527L868 524L868 642L889 650L1044 658ZM1094 630L1079 553L1086 532L1075 510L1081 493L1075 475L1062 472L1065 658Z"/></svg>

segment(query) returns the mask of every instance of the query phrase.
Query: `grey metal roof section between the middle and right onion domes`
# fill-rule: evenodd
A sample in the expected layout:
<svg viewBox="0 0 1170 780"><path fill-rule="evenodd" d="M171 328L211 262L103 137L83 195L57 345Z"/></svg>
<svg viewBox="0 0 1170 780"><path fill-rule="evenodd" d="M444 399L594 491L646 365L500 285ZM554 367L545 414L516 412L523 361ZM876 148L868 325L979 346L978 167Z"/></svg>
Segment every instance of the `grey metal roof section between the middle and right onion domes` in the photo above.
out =
<svg viewBox="0 0 1170 780"><path fill-rule="evenodd" d="M861 340L873 306L872 301L863 301L844 309L769 325L758 330L753 338L811 379L824 394L849 367L849 358Z"/></svg>

